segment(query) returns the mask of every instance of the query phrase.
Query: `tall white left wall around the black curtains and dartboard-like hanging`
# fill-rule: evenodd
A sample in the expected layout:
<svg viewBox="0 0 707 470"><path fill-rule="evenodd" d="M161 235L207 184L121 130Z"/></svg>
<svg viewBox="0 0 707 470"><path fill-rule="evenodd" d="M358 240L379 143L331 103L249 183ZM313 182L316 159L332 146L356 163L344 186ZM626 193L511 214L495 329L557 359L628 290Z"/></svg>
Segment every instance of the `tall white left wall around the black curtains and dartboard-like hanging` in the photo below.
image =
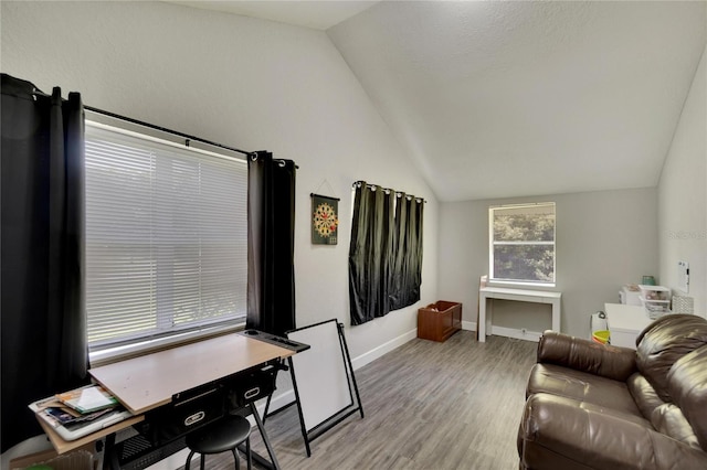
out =
<svg viewBox="0 0 707 470"><path fill-rule="evenodd" d="M297 324L337 318L356 365L415 335L436 293L437 202L321 31L161 2L1 3L1 70L84 104L299 165ZM351 183L422 196L422 300L349 327ZM339 243L310 244L310 193L340 197Z"/></svg>

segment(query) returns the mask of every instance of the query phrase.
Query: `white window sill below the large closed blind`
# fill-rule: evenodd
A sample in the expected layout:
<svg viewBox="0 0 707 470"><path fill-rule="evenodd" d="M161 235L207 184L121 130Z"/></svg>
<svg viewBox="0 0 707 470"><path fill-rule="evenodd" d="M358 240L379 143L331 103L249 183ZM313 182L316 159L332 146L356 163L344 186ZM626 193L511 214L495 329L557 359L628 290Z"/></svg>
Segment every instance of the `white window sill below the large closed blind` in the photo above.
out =
<svg viewBox="0 0 707 470"><path fill-rule="evenodd" d="M194 343L198 341L207 340L209 338L234 333L236 331L243 331L244 329L245 322L233 325L220 325L199 331L190 331L171 337L146 340L133 344L125 344L101 351L89 352L88 360L91 361L91 367L98 367L101 365L106 365L114 362L124 361L126 359L176 348L182 344Z"/></svg>

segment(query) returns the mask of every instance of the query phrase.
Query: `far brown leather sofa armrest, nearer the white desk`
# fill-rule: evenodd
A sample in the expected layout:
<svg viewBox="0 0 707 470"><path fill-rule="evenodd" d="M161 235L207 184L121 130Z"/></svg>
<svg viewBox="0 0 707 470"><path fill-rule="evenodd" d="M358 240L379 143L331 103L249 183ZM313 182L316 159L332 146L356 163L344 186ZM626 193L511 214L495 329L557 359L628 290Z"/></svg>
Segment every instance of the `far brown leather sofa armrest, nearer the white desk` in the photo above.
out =
<svg viewBox="0 0 707 470"><path fill-rule="evenodd" d="M538 362L557 364L625 382L636 372L636 352L599 344L557 331L546 331L538 343Z"/></svg>

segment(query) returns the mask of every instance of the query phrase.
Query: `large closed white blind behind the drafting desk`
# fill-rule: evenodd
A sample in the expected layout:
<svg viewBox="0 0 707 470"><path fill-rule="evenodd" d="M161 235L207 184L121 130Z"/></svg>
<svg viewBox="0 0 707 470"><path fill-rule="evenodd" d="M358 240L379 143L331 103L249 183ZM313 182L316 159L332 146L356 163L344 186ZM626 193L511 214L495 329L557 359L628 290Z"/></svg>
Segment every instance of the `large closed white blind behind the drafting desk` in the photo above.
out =
<svg viewBox="0 0 707 470"><path fill-rule="evenodd" d="M92 350L245 318L245 161L86 122Z"/></svg>

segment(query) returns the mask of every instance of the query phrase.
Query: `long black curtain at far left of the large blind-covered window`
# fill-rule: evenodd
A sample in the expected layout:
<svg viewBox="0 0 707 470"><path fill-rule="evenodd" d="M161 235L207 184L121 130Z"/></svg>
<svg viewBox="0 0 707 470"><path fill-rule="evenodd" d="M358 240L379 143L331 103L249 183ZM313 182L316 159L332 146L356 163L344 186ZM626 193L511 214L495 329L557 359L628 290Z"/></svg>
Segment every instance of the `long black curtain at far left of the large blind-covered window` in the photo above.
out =
<svg viewBox="0 0 707 470"><path fill-rule="evenodd" d="M2 435L42 432L28 404L88 382L84 111L2 74Z"/></svg>

